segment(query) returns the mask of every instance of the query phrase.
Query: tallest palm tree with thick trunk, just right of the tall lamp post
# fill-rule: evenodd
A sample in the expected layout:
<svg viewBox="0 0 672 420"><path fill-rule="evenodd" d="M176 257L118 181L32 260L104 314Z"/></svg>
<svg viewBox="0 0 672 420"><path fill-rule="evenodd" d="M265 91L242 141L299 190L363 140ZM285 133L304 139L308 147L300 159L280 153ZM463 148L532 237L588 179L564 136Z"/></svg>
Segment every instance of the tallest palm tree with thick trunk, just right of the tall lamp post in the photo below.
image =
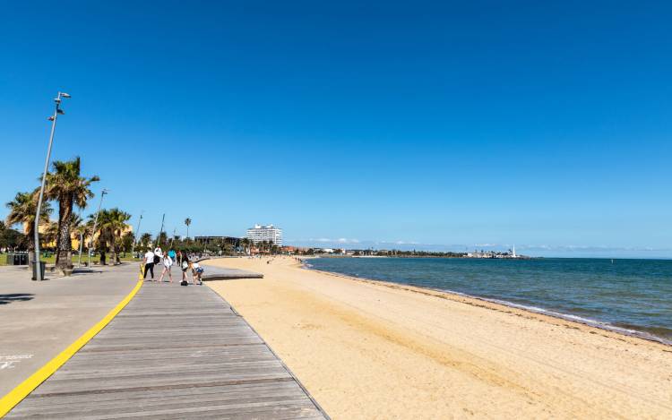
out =
<svg viewBox="0 0 672 420"><path fill-rule="evenodd" d="M65 273L73 269L73 240L70 234L73 207L86 207L86 201L93 198L90 185L99 181L98 176L90 178L80 175L81 160L56 160L54 172L47 174L47 199L58 201L58 237L56 239L56 267Z"/></svg>

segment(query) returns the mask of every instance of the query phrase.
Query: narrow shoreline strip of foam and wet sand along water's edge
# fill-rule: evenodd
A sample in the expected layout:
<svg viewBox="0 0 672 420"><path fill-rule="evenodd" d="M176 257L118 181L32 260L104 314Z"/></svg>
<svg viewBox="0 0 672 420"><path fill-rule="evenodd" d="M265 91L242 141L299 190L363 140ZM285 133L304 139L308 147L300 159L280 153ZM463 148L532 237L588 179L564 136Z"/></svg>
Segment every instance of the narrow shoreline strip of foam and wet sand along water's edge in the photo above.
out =
<svg viewBox="0 0 672 420"><path fill-rule="evenodd" d="M309 263L307 262L301 262L300 268L302 270L310 270L310 271L315 271L319 272L328 276L335 276L343 279L350 279L354 281L362 281L366 283L373 283L373 284L379 284L384 287L392 287L392 288L400 288L402 290L408 290L413 293L424 293L424 291L432 291L435 293L439 294L444 294L444 298L448 298L452 300L455 297L461 297L464 299L473 299L478 302L483 302L487 304L494 304L494 305L499 305L504 308L508 309L516 309L518 311L522 311L525 313L530 313L530 314L535 314L535 315L540 315L540 316L547 316L548 318L551 319L556 319L556 320L562 320L566 322L573 322L580 324L584 327L590 327L590 328L595 328L597 330L602 330L602 331L608 331L612 332L615 334L619 334L621 336L629 337L629 338L635 338L635 339L643 339L646 341L654 342L654 343L659 343L663 346L667 347L672 347L672 339L665 339L662 337L658 337L654 334L650 334L649 332L646 331L641 331L641 330L629 330L623 327L618 327L616 325L611 325L607 322L604 321L598 321L598 320L590 320L588 318L583 318L578 315L573 315L571 313L559 313L550 309L544 309L541 307L535 307L535 306L527 306L524 304L516 304L514 302L509 302L503 299L496 299L496 298L490 298L490 297L485 297L485 296L476 296L476 295L469 295L467 293L462 293L458 292L455 290L449 290L449 289L441 289L441 288L435 288L435 287L423 287L423 286L416 286L416 285L411 285L411 284L405 284L405 283L394 283L392 281L385 281L385 280L379 280L379 279L368 279L364 277L357 277L357 276L350 276L348 274L342 274L336 271L326 271L326 270L317 270L311 268ZM441 296L437 296L441 297ZM469 301L462 300L461 303L464 304L473 304L470 303ZM481 307L487 307L488 309L495 309L491 308L489 306L484 306L480 305Z"/></svg>

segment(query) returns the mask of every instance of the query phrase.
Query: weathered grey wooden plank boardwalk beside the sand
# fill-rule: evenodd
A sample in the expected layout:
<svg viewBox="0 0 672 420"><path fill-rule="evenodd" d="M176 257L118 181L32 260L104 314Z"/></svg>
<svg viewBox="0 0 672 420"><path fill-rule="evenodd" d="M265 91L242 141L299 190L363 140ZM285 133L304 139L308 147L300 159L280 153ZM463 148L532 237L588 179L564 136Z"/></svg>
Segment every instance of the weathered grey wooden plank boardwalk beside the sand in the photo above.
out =
<svg viewBox="0 0 672 420"><path fill-rule="evenodd" d="M177 284L145 283L7 418L326 418L227 302Z"/></svg>

